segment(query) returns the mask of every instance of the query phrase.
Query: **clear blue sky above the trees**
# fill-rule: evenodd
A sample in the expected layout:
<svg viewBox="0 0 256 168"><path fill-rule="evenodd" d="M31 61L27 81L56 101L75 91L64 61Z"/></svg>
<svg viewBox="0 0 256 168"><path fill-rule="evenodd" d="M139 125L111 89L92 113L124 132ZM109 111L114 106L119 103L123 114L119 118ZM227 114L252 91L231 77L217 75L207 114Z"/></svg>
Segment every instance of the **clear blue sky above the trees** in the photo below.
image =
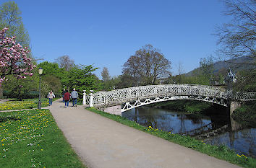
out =
<svg viewBox="0 0 256 168"><path fill-rule="evenodd" d="M1 0L4 2L7 0ZM76 64L111 76L146 44L161 50L176 74L215 56L216 25L229 22L218 0L16 0L30 35L33 56L55 61L68 55Z"/></svg>

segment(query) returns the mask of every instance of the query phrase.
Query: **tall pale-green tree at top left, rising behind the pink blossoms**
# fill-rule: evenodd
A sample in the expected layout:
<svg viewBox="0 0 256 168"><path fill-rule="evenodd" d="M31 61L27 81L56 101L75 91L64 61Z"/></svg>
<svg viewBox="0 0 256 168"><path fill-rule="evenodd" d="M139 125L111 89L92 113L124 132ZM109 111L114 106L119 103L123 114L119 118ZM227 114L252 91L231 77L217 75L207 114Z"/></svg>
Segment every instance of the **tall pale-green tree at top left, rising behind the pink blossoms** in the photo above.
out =
<svg viewBox="0 0 256 168"><path fill-rule="evenodd" d="M29 47L30 38L20 16L22 12L14 1L7 1L0 6L0 29L8 27L7 36L15 36L17 43Z"/></svg>

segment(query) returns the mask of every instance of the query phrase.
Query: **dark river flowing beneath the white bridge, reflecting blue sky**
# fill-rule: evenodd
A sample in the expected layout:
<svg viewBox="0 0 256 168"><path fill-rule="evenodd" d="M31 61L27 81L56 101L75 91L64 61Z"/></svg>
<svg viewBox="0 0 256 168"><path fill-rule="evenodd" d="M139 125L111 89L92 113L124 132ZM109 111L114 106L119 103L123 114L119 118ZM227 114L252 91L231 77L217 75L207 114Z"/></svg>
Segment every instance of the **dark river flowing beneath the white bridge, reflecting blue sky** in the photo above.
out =
<svg viewBox="0 0 256 168"><path fill-rule="evenodd" d="M193 135L194 130L202 131L227 126L226 130L216 136L204 138L205 143L226 145L236 151L256 158L256 128L240 128L234 120L223 115L187 114L154 107L137 107L122 113L124 118L133 120L144 126L152 126L172 133L187 133ZM208 127L204 127L208 125ZM200 129L197 129L197 132Z"/></svg>

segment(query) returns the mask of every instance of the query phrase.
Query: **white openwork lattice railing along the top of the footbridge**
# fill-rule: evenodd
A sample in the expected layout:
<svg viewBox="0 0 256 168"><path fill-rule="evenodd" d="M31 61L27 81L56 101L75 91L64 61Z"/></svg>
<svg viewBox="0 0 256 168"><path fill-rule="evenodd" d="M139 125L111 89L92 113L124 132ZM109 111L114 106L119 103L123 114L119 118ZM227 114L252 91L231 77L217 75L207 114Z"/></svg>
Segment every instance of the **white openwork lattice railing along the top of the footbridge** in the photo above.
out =
<svg viewBox="0 0 256 168"><path fill-rule="evenodd" d="M255 100L255 92L238 92L234 94L231 90L221 87L212 87L199 84L161 84L147 85L141 87L129 87L124 89L111 90L109 92L99 92L93 94L93 105L121 105L137 99L165 96L195 96L195 97L215 97L224 100ZM90 103L86 97L86 104Z"/></svg>

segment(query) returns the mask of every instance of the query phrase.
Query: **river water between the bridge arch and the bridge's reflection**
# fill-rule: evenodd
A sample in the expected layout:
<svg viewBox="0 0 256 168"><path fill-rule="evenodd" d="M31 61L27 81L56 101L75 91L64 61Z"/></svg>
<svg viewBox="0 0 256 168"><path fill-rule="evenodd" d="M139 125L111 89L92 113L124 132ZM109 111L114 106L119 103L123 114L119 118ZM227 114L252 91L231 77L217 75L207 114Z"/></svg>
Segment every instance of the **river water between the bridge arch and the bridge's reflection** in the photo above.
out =
<svg viewBox="0 0 256 168"><path fill-rule="evenodd" d="M210 118L205 115L188 115L181 112L173 112L170 110L139 107L127 112L123 112L122 116L133 120L140 125L152 126L153 128L162 129L163 131L172 131L173 133L184 133L201 128L209 123L213 124L213 129L219 125L226 124L226 118ZM220 127L221 127L220 126Z"/></svg>

